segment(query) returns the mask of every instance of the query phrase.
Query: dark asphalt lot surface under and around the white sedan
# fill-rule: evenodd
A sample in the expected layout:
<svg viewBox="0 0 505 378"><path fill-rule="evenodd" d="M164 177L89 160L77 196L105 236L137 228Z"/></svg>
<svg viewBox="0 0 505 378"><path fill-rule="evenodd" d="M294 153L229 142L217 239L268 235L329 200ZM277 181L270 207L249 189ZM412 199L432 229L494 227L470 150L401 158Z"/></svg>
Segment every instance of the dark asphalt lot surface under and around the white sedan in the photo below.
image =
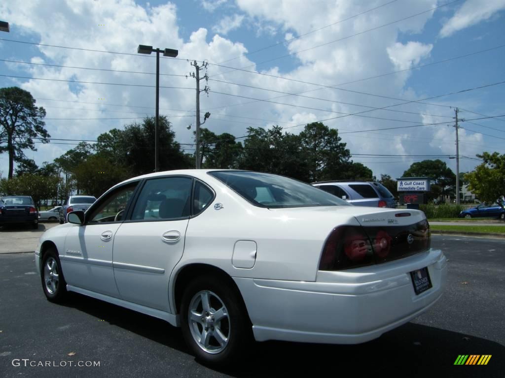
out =
<svg viewBox="0 0 505 378"><path fill-rule="evenodd" d="M180 331L158 319L78 294L48 302L32 253L0 255L0 376L505 376L505 243L433 236L432 246L448 258L447 290L415 321L361 345L258 343L227 370L197 363ZM492 357L455 366L460 354Z"/></svg>

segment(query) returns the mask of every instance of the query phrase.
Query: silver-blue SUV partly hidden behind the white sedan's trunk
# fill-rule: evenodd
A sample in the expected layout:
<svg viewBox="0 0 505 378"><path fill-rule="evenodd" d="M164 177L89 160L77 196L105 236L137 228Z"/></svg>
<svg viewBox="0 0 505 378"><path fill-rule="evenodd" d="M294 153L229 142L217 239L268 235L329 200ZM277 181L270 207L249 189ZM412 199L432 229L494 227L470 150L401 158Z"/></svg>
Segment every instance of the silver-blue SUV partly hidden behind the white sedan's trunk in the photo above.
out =
<svg viewBox="0 0 505 378"><path fill-rule="evenodd" d="M391 192L380 182L321 181L312 185L356 206L396 208L398 205Z"/></svg>

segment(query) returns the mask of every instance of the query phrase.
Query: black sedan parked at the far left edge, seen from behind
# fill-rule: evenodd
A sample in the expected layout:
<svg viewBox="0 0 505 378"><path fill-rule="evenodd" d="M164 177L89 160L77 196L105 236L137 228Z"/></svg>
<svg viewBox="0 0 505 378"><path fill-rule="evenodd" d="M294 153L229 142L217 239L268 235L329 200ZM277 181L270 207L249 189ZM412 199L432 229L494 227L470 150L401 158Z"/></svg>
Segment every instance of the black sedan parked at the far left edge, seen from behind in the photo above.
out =
<svg viewBox="0 0 505 378"><path fill-rule="evenodd" d="M38 228L38 214L30 196L0 197L0 226L24 223Z"/></svg>

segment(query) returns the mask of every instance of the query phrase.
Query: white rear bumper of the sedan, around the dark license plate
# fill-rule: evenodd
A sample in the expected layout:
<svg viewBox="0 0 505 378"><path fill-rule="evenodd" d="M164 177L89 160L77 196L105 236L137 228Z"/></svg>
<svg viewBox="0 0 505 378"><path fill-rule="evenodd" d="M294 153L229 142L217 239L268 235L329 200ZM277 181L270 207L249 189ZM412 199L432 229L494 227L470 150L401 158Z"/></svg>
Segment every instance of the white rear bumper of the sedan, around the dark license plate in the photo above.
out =
<svg viewBox="0 0 505 378"><path fill-rule="evenodd" d="M416 295L411 271L428 267ZM369 269L319 272L316 282L234 278L257 341L357 344L416 318L440 298L447 263L439 250Z"/></svg>

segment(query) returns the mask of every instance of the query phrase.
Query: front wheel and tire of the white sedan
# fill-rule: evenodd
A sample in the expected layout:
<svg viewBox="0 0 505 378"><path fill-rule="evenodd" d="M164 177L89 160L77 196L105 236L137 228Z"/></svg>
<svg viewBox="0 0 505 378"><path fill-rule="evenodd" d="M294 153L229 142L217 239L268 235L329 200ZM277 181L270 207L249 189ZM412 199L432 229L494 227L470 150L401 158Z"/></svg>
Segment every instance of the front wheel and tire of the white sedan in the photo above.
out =
<svg viewBox="0 0 505 378"><path fill-rule="evenodd" d="M40 277L42 290L47 300L55 303L63 302L67 294L67 283L55 248L49 248L45 252L40 267Z"/></svg>

